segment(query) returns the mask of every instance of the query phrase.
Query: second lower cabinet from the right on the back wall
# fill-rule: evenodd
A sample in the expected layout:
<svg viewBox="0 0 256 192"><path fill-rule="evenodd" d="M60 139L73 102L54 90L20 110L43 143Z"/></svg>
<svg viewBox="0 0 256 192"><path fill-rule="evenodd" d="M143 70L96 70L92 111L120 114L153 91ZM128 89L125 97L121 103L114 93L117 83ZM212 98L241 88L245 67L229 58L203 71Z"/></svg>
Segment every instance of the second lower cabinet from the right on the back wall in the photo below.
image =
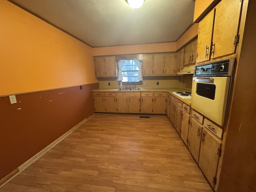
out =
<svg viewBox="0 0 256 192"><path fill-rule="evenodd" d="M141 93L141 113L153 113L153 92Z"/></svg>

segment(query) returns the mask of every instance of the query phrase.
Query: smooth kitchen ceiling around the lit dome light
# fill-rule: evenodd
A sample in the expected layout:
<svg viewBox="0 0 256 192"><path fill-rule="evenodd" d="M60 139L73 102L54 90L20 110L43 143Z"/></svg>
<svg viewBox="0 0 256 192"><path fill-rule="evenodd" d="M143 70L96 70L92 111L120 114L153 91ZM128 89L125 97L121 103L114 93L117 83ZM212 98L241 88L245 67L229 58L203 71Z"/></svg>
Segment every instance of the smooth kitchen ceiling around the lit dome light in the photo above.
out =
<svg viewBox="0 0 256 192"><path fill-rule="evenodd" d="M194 0L10 0L92 47L175 42L193 22Z"/></svg>

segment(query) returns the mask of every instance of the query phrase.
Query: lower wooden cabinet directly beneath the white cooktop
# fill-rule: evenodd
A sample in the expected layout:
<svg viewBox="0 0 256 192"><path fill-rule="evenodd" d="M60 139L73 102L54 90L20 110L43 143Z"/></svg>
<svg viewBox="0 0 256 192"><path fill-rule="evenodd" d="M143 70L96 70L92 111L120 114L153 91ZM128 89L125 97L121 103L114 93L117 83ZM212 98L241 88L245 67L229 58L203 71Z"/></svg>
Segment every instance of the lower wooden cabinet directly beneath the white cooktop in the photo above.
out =
<svg viewBox="0 0 256 192"><path fill-rule="evenodd" d="M182 106L183 102L174 96L171 96L171 109L170 109L170 120L174 125L174 128L180 135L181 132L181 122L182 122Z"/></svg>

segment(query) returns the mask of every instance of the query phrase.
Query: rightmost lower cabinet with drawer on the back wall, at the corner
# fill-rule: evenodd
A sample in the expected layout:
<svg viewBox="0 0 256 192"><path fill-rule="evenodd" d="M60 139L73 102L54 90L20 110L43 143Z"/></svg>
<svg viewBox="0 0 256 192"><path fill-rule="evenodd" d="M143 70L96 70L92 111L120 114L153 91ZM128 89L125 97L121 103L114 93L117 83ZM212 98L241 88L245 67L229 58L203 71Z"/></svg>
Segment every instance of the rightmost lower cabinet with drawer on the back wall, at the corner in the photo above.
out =
<svg viewBox="0 0 256 192"><path fill-rule="evenodd" d="M166 92L154 92L153 113L166 114Z"/></svg>

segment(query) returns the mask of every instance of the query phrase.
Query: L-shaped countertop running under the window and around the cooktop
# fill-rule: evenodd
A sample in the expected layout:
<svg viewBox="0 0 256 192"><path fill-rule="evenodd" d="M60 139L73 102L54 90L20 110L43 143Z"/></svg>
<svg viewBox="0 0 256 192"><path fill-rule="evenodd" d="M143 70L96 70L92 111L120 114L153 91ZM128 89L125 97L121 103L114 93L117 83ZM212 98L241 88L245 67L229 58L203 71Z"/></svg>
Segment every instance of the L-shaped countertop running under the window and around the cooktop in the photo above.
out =
<svg viewBox="0 0 256 192"><path fill-rule="evenodd" d="M179 100L181 100L182 102L191 105L191 98L181 98L179 96L176 96L175 94L173 94L172 92L186 92L186 91L190 91L191 90L187 90L187 89L182 89L182 88L140 88L140 90L117 90L116 89L95 89L92 90L92 92L168 92L171 95L175 96L176 98L178 98Z"/></svg>

